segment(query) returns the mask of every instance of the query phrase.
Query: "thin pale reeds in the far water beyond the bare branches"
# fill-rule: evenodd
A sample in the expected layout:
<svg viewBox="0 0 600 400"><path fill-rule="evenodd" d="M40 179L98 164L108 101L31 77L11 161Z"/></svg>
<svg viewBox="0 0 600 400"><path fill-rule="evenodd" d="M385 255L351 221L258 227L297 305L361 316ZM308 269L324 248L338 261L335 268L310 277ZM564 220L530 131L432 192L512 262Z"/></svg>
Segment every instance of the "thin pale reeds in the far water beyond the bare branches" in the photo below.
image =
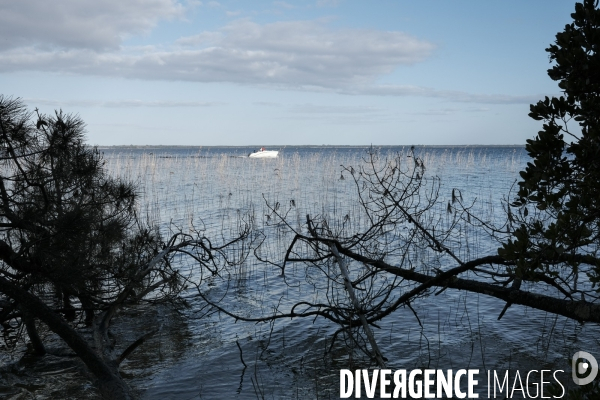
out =
<svg viewBox="0 0 600 400"><path fill-rule="evenodd" d="M381 161L406 148L383 149ZM509 196L518 171L526 162L522 149L503 152L489 148L423 148L416 152L429 177L440 178L437 212L445 214L444 199L460 189L464 202L486 220L501 220L502 200ZM240 221L274 235L261 251L276 259L284 254L290 237L285 227L273 227L273 208L287 213L292 228L301 231L306 215L326 217L332 228L346 220L348 231L364 228L366 220L357 188L342 166L355 169L364 163L366 151L284 152L277 159L249 159L197 150L188 152L113 151L107 155L109 172L138 184L138 212L158 224L167 235L173 229L203 231L208 237L235 234ZM345 175L345 176L344 176ZM482 243L481 235L465 226L472 236L468 252L494 243ZM463 238L464 239L464 238ZM288 242L286 242L288 241Z"/></svg>

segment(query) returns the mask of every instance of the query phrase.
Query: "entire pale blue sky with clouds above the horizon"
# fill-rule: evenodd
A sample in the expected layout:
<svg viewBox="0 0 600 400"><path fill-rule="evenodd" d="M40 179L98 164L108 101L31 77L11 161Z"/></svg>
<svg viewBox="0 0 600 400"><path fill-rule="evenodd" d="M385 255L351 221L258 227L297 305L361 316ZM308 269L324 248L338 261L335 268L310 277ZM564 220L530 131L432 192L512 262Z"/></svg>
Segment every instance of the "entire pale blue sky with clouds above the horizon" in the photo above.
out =
<svg viewBox="0 0 600 400"><path fill-rule="evenodd" d="M0 94L93 145L524 144L566 0L0 0Z"/></svg>

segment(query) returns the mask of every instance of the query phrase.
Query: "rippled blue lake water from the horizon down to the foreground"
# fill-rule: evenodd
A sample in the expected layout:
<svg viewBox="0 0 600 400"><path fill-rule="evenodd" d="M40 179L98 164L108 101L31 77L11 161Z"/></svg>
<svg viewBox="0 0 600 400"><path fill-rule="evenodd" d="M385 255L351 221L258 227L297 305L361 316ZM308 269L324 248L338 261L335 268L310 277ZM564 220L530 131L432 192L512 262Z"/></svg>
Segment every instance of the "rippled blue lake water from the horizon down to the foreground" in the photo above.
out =
<svg viewBox="0 0 600 400"><path fill-rule="evenodd" d="M346 218L346 229L364 227L357 188L342 166L359 170L367 147L271 149L280 150L278 158L249 159L245 156L253 149L247 147L100 150L111 173L138 183L139 212L158 223L164 235L196 230L218 243L235 235L241 220L252 220L264 234L259 256L280 264L293 237L291 229L301 230L307 214L325 216L332 226ZM383 157L410 154L408 147L375 150ZM474 213L491 222L502 220L502 200L529 161L522 146L417 147L414 154L423 159L427 177L440 179L439 215L445 215L452 189L459 188L465 204L474 202ZM291 229L274 220L268 205L277 204L287 212ZM459 236L448 243L464 259L495 254L497 244L481 230L465 228ZM448 266L441 262L441 267ZM181 267L191 267L189 260L182 259ZM323 274L301 263L291 264L284 279L276 265L251 254L242 265L205 277L200 289L238 315L260 317L287 312L299 301L326 299L331 288L322 279ZM372 366L343 335L332 346L338 326L322 318L236 322L208 309L194 290L184 297L190 308L181 313L152 307L143 320L115 328L133 335L162 324L161 333L123 365L142 398L338 398L340 369ZM498 321L504 304L486 296L446 290L412 306L419 319L400 308L374 329L392 370L479 368L481 379L485 370L570 371L568 359L574 351L598 354L600 348L597 326L521 306L512 306ZM49 375L48 369L42 375ZM570 380L566 373L563 377L565 383ZM71 384L84 387L84 381L77 375ZM73 390L93 397L85 387Z"/></svg>

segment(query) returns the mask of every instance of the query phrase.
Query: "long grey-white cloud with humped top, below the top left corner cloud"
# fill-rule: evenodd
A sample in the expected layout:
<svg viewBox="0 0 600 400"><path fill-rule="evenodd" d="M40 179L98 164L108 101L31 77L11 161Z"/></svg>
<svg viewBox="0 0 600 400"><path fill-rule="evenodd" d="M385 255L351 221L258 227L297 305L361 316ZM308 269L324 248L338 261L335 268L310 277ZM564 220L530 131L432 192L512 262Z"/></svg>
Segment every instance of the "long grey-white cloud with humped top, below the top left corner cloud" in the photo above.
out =
<svg viewBox="0 0 600 400"><path fill-rule="evenodd" d="M0 71L336 89L370 84L398 66L425 60L433 49L402 32L332 30L323 21L259 25L238 20L220 31L181 38L169 48L8 49L0 52Z"/></svg>

